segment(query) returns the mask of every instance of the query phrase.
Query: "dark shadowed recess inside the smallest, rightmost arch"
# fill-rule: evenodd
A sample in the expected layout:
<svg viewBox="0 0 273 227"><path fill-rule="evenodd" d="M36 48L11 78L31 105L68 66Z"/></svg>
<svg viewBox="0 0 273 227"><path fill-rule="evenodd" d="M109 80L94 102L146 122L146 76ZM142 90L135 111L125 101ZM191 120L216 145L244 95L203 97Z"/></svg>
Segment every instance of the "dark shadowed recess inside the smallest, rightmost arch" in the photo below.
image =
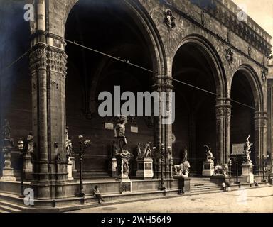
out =
<svg viewBox="0 0 273 227"><path fill-rule="evenodd" d="M247 77L250 77L250 75L243 71L239 70L235 73L232 79L231 99L247 106L255 106L252 88ZM255 109L243 106L242 104L232 102L230 126L231 145L235 143L245 143L248 135L250 135L250 142L255 143ZM257 156L255 155L256 146L257 145L252 148L252 153L250 153L254 170L257 170L257 165L255 163ZM231 152L234 153L233 150L231 150Z"/></svg>

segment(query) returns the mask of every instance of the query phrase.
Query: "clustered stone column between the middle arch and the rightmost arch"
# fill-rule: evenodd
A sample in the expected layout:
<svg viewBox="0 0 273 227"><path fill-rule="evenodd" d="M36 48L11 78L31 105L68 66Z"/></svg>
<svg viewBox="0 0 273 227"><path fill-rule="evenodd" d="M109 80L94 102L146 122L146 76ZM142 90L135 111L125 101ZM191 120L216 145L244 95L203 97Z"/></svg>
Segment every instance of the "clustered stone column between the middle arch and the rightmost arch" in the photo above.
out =
<svg viewBox="0 0 273 227"><path fill-rule="evenodd" d="M216 99L216 151L215 162L227 164L230 158L231 105L228 99Z"/></svg>

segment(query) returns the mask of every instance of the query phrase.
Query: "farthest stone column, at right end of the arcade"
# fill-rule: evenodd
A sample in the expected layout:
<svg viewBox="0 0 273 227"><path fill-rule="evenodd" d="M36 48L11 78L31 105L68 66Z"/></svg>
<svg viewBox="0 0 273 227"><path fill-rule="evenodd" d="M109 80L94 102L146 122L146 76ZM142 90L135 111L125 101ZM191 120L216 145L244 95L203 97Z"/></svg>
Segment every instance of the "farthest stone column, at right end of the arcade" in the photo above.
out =
<svg viewBox="0 0 273 227"><path fill-rule="evenodd" d="M267 113L255 112L255 164L259 175L262 174L262 155L267 155Z"/></svg>

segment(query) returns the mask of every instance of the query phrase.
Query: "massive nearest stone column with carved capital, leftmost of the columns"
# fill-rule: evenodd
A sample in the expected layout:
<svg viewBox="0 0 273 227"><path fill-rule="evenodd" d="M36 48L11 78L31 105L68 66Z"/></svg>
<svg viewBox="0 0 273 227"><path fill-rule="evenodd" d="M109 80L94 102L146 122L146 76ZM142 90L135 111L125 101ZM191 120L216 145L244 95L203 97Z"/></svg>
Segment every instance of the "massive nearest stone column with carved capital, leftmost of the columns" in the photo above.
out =
<svg viewBox="0 0 273 227"><path fill-rule="evenodd" d="M45 1L36 1L31 23L30 72L33 114L33 177L35 199L58 199L68 179L65 151L65 75L63 38L48 33Z"/></svg>

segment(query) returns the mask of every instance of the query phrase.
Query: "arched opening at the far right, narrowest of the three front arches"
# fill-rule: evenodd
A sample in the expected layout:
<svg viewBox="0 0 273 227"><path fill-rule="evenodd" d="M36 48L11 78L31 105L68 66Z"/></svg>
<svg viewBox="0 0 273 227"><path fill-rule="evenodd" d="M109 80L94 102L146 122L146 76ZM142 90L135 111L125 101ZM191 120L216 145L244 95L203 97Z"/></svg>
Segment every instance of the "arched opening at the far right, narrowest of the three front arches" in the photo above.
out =
<svg viewBox="0 0 273 227"><path fill-rule="evenodd" d="M250 135L250 142L254 143L250 159L254 165L253 170L256 172L259 165L256 151L259 145L255 144L257 139L255 134L255 111L259 111L260 101L250 77L252 77L252 74L241 69L235 72L232 79L230 95L231 99L235 101L232 102L230 140L232 154L237 153L240 155L243 153L243 144ZM240 102L240 104L237 102ZM239 162L242 162L240 158ZM235 172L234 168L232 172Z"/></svg>

